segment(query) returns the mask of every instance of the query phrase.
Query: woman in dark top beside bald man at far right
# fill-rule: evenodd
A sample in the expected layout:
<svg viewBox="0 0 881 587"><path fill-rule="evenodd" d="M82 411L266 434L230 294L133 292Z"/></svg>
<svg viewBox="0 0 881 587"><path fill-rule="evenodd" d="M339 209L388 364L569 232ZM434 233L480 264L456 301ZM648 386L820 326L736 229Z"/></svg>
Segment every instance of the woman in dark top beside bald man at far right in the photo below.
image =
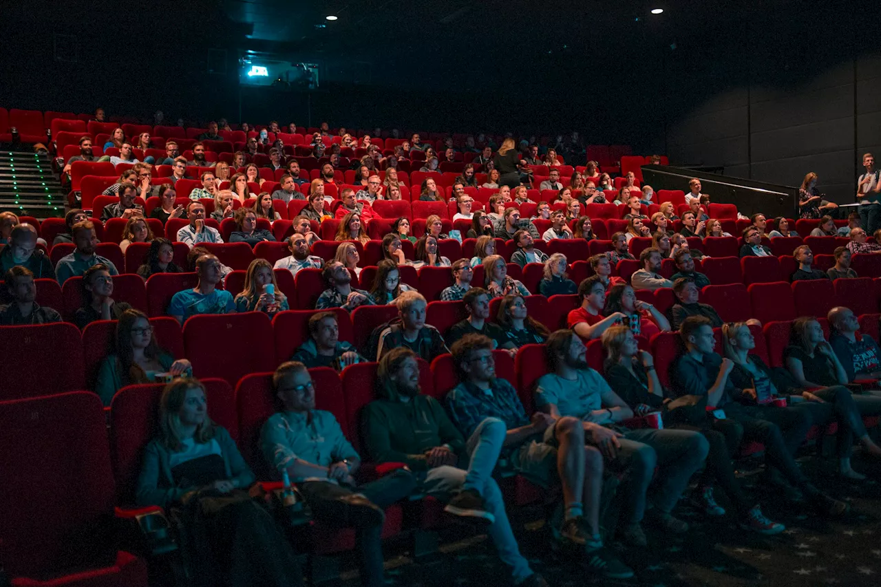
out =
<svg viewBox="0 0 881 587"><path fill-rule="evenodd" d="M811 408L816 407L812 405L813 402L832 407L833 413L827 413L826 419L818 420L815 415L814 420L819 422L834 418L838 421L839 472L848 479L865 479L862 473L855 472L851 467L850 450L853 439L857 438L868 454L881 457L881 448L872 442L862 425L862 416L881 414L881 397L853 395L844 387L848 383L848 373L832 346L826 342L823 327L816 319L796 318L792 323L791 343L783 350L786 368L798 385L798 389L791 390L791 395L798 395L800 391L802 397L811 402Z"/></svg>

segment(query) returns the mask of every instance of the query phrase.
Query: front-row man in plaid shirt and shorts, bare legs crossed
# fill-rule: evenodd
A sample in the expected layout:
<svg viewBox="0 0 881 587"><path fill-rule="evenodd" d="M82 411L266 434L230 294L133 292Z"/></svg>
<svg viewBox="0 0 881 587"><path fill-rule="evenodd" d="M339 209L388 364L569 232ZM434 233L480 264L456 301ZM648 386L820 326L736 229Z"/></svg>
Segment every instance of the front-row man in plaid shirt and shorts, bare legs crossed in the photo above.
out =
<svg viewBox="0 0 881 587"><path fill-rule="evenodd" d="M585 446L585 428L591 443L600 444L614 435L611 430L575 418L553 421L536 412L532 418L517 390L495 376L492 341L469 334L453 346L453 362L462 383L447 395L447 405L455 426L471 436L487 421L505 426L499 468L517 472L548 488L562 485L565 515L558 531L562 539L586 549L589 568L607 578L626 579L633 571L618 561L610 549L603 548L600 535L600 507L603 493L603 455L596 447Z"/></svg>

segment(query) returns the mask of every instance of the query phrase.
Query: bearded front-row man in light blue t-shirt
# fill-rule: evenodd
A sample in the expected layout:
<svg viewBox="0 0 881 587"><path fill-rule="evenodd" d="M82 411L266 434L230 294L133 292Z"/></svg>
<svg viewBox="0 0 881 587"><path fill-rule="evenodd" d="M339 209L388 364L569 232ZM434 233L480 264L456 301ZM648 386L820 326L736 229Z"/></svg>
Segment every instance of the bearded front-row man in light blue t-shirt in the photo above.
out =
<svg viewBox="0 0 881 587"><path fill-rule="evenodd" d="M587 348L581 338L573 331L556 331L548 338L547 350L552 372L538 379L537 408L551 414L554 420L566 416L581 420L585 433L593 434L595 427L602 426L620 430L611 435L598 435L596 442L612 468L630 468L631 487L620 527L623 539L633 546L646 546L641 526L645 515L663 530L688 531L688 524L671 512L692 474L707 457L707 439L691 430L621 427L618 422L633 418L633 410L618 398L599 373L588 367ZM656 477L655 488L648 496L653 477ZM647 499L655 505L648 512Z"/></svg>

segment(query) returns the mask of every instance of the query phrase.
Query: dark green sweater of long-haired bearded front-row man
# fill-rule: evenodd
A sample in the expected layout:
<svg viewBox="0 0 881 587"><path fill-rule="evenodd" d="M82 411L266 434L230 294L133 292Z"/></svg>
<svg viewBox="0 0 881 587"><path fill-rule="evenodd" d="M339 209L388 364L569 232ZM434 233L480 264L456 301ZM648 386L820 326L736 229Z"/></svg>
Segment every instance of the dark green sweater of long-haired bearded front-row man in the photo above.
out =
<svg viewBox="0 0 881 587"><path fill-rule="evenodd" d="M426 471L426 452L434 447L446 444L464 456L463 436L436 399L420 393L404 402L390 382L380 387L379 397L366 405L362 420L370 460Z"/></svg>

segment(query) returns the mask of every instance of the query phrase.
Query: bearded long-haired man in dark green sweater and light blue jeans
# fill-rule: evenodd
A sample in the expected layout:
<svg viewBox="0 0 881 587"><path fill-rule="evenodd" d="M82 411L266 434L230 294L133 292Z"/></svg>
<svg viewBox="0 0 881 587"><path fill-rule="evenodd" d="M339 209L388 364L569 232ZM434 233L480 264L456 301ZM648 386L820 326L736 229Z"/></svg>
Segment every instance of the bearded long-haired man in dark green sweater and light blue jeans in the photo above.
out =
<svg viewBox="0 0 881 587"><path fill-rule="evenodd" d="M512 569L514 583L546 586L520 554L492 470L499 459L505 427L484 420L466 442L431 396L419 393L419 365L407 348L396 348L376 372L379 399L364 408L365 444L377 463L404 463L416 473L418 490L447 502L445 510L489 524L499 558ZM468 469L457 464L467 464Z"/></svg>

